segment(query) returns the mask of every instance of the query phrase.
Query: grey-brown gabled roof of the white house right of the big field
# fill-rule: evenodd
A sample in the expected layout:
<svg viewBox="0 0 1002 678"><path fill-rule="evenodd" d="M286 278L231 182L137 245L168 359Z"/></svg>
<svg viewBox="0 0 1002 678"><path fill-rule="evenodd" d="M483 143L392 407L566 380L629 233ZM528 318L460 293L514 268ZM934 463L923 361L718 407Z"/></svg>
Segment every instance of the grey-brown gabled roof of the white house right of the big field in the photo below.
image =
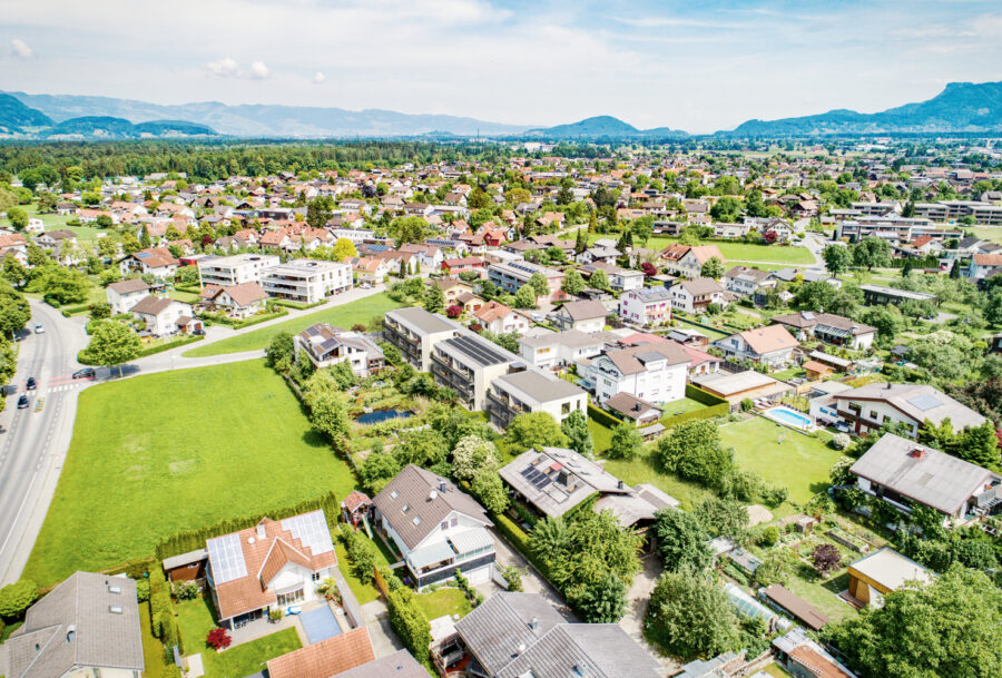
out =
<svg viewBox="0 0 1002 678"><path fill-rule="evenodd" d="M453 511L488 525L494 524L472 497L451 481L414 464L404 466L372 502L409 549L420 544L432 530L438 530ZM403 510L405 505L406 512ZM418 524L414 524L415 518L421 519Z"/></svg>

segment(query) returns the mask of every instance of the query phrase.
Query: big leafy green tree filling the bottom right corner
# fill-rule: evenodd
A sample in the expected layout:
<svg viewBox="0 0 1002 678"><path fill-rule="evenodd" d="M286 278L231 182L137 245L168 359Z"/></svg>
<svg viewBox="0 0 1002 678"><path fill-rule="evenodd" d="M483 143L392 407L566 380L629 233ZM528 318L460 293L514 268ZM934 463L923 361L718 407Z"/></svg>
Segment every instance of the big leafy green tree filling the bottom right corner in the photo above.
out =
<svg viewBox="0 0 1002 678"><path fill-rule="evenodd" d="M1002 590L988 576L952 567L933 583L906 586L883 608L822 631L866 676L989 678L1002 671Z"/></svg>

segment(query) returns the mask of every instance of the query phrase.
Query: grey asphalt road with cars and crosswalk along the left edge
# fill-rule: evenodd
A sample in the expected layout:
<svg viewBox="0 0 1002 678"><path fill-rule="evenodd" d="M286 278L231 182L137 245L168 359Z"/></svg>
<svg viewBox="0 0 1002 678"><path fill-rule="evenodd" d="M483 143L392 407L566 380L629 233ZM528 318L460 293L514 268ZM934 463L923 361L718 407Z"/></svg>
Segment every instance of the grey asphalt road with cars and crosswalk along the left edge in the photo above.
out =
<svg viewBox="0 0 1002 678"><path fill-rule="evenodd" d="M82 326L35 301L31 313L0 413L0 583L18 579L35 544L62 468L77 393L87 385L72 379L80 366L76 354L86 345ZM35 333L36 323L45 333ZM35 391L26 390L29 376L38 380ZM29 406L18 410L22 393Z"/></svg>

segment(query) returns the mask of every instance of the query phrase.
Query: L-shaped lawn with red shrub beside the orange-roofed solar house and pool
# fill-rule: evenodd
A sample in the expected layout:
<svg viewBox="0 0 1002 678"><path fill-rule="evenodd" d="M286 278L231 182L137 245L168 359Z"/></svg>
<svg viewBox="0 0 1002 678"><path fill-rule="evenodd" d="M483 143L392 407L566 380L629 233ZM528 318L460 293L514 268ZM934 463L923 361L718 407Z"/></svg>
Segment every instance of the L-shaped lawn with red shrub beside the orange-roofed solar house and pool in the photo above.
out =
<svg viewBox="0 0 1002 678"><path fill-rule="evenodd" d="M179 601L177 626L185 643L185 652L202 652L205 678L250 676L264 668L263 662L302 647L296 630L288 628L217 652L205 643L206 636L216 626L205 598Z"/></svg>

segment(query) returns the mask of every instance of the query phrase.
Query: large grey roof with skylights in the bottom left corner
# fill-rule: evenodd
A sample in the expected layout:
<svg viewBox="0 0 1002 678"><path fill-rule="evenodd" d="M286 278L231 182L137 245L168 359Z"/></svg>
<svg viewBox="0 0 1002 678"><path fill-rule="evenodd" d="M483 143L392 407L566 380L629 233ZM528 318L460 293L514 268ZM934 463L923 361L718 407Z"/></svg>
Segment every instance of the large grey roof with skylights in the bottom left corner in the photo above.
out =
<svg viewBox="0 0 1002 678"><path fill-rule="evenodd" d="M141 671L136 582L77 572L29 608L24 625L6 646L9 678L52 678L73 667Z"/></svg>

